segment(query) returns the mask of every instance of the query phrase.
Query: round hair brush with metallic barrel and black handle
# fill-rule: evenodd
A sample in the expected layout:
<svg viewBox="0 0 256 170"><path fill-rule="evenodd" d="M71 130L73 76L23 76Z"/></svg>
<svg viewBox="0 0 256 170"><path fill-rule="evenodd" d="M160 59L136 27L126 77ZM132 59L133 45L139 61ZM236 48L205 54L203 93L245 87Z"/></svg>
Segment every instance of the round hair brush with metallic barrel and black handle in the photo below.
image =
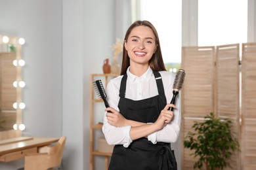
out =
<svg viewBox="0 0 256 170"><path fill-rule="evenodd" d="M173 98L171 99L171 104L173 105L175 105L176 97L179 94L179 90L181 90L182 88L185 75L185 71L183 69L179 69L178 73L175 76L175 80L173 82ZM169 110L173 111L173 107L170 107Z"/></svg>

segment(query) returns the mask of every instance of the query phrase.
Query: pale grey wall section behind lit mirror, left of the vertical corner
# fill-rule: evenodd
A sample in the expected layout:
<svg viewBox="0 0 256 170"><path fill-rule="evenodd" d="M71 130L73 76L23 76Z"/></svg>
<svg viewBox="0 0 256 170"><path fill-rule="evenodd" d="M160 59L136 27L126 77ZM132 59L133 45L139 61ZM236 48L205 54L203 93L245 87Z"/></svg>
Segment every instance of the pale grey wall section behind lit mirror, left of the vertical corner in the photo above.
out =
<svg viewBox="0 0 256 170"><path fill-rule="evenodd" d="M61 0L0 0L0 33L24 37L24 135L62 135ZM0 163L0 169L22 167L22 161Z"/></svg>

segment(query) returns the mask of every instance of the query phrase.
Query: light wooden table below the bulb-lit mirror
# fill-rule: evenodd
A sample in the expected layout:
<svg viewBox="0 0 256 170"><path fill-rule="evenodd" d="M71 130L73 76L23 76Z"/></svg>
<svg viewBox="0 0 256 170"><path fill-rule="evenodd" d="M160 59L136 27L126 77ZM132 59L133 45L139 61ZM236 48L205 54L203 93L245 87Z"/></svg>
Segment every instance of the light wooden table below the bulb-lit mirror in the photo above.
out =
<svg viewBox="0 0 256 170"><path fill-rule="evenodd" d="M0 161L9 162L22 159L26 154L38 152L38 148L56 143L54 137L15 137L0 141Z"/></svg>

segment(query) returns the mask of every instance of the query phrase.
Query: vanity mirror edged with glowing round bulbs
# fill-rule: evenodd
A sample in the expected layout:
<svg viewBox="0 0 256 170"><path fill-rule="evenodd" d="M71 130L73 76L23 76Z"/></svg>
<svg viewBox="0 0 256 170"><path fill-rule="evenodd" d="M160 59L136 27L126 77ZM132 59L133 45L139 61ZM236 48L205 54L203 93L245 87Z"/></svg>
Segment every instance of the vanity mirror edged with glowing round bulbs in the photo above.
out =
<svg viewBox="0 0 256 170"><path fill-rule="evenodd" d="M21 136L22 44L24 39L0 35L0 140Z"/></svg>

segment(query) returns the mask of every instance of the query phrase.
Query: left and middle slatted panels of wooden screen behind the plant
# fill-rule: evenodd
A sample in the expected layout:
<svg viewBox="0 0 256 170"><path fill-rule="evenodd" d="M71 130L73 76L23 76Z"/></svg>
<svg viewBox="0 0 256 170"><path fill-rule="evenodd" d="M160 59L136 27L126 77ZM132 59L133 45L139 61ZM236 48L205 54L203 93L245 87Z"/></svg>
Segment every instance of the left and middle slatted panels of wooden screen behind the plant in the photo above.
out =
<svg viewBox="0 0 256 170"><path fill-rule="evenodd" d="M181 169L193 169L198 160L190 155L190 149L184 148L184 137L192 131L194 121L204 120L210 112L230 118L234 137L240 139L239 63L239 44L182 47L181 68L186 71L186 78L181 92ZM240 152L235 152L230 165L240 169Z"/></svg>

